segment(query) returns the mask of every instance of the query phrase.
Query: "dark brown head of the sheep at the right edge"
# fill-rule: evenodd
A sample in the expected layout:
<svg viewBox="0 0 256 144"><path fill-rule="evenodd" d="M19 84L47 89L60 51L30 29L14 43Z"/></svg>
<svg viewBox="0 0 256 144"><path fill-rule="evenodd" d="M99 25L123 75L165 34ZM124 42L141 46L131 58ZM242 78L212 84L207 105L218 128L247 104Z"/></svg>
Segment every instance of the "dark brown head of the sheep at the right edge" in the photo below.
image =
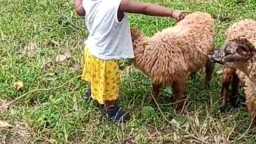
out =
<svg viewBox="0 0 256 144"><path fill-rule="evenodd" d="M246 39L234 39L225 42L219 50L215 50L208 55L213 62L220 64L247 61L256 54L254 46Z"/></svg>

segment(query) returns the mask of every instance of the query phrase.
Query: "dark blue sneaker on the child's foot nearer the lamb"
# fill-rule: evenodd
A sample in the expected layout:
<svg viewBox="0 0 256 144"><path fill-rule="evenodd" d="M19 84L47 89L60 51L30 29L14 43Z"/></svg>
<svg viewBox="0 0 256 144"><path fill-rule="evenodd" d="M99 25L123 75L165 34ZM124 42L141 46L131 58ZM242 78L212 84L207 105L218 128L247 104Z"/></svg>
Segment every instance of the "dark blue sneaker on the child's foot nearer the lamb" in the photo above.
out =
<svg viewBox="0 0 256 144"><path fill-rule="evenodd" d="M107 114L107 118L117 122L125 122L130 119L129 114L122 110L117 104L108 108L104 106L104 112Z"/></svg>

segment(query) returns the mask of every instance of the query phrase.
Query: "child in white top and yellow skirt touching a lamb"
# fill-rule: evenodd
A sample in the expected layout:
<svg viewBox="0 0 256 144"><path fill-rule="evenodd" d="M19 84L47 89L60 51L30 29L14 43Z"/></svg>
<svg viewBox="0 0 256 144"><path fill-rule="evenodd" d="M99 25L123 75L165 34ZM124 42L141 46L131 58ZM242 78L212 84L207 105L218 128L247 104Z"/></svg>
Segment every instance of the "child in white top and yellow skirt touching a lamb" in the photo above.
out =
<svg viewBox="0 0 256 144"><path fill-rule="evenodd" d="M85 97L103 105L108 118L130 118L117 104L119 59L134 58L127 13L166 16L182 20L186 12L131 0L75 0L76 13L85 16L89 31L82 79L90 82Z"/></svg>

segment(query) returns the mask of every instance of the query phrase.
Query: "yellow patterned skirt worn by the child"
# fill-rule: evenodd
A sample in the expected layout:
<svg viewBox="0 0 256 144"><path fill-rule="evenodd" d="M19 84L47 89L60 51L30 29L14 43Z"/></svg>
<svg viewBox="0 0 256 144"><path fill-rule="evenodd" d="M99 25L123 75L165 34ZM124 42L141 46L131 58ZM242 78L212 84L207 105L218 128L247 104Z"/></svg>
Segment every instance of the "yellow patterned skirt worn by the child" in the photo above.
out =
<svg viewBox="0 0 256 144"><path fill-rule="evenodd" d="M84 70L82 79L90 83L91 97L100 104L116 100L119 90L119 68L117 60L102 60L84 49Z"/></svg>

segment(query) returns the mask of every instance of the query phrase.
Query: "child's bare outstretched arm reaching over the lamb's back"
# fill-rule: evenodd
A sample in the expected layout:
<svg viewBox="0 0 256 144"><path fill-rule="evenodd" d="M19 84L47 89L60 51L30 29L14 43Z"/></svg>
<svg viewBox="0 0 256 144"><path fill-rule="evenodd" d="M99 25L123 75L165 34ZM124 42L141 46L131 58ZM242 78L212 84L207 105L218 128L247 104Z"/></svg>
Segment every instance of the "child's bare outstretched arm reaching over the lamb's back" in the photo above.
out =
<svg viewBox="0 0 256 144"><path fill-rule="evenodd" d="M119 6L120 12L145 14L150 16L170 16L177 21L183 19L187 12L157 6L144 2L133 2L132 0L122 0Z"/></svg>

